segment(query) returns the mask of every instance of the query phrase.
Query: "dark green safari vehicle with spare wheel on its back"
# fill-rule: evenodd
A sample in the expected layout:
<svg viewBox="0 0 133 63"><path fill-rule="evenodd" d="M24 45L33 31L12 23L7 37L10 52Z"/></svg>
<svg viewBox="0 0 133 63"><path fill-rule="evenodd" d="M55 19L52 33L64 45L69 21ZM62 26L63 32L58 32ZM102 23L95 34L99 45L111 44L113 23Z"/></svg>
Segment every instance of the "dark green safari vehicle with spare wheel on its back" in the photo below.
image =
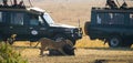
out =
<svg viewBox="0 0 133 63"><path fill-rule="evenodd" d="M102 40L111 48L133 43L133 8L92 8L91 21L85 22L85 34Z"/></svg>

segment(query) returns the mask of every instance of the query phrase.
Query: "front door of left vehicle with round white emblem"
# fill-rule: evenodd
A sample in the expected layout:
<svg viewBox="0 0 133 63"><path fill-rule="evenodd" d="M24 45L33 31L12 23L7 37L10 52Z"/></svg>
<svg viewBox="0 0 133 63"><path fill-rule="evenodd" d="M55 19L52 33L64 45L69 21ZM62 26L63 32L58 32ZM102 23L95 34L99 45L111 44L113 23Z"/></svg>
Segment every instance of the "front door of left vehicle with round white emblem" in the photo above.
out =
<svg viewBox="0 0 133 63"><path fill-rule="evenodd" d="M40 38L48 36L48 25L44 23L41 15L30 14L29 15L29 35L34 40L39 40Z"/></svg>

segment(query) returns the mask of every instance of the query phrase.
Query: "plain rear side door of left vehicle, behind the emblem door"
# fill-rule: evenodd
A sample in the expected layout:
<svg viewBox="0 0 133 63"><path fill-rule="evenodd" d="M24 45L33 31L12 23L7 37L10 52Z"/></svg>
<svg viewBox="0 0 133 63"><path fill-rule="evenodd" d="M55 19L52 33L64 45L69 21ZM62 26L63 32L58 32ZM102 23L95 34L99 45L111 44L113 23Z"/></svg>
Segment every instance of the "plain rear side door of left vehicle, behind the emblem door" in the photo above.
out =
<svg viewBox="0 0 133 63"><path fill-rule="evenodd" d="M25 13L23 12L11 12L10 14L10 31L11 34L17 34L17 40L28 39L28 27L24 25Z"/></svg>

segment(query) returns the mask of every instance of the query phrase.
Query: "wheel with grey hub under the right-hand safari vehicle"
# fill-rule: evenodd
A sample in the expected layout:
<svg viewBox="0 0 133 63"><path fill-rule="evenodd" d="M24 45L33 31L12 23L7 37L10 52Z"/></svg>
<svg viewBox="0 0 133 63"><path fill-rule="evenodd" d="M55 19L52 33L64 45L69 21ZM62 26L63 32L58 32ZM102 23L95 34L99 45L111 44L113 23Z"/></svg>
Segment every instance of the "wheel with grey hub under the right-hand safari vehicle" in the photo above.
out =
<svg viewBox="0 0 133 63"><path fill-rule="evenodd" d="M109 39L109 45L110 45L111 48L122 46L122 39L121 39L120 36L112 35L112 36Z"/></svg>

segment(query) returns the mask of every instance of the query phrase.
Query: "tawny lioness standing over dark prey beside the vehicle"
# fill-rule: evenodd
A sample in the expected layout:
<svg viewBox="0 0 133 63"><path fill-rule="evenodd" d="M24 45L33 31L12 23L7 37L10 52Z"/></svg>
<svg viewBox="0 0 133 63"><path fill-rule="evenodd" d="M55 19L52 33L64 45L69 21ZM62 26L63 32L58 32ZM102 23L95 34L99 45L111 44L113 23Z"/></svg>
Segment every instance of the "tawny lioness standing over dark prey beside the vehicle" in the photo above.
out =
<svg viewBox="0 0 133 63"><path fill-rule="evenodd" d="M63 55L66 55L66 53L64 53L63 51L63 46L65 44L73 46L73 43L70 40L62 40L62 41L55 42L51 39L42 38L39 40L39 42L41 42L40 55L43 55L43 51L45 50L58 50Z"/></svg>

